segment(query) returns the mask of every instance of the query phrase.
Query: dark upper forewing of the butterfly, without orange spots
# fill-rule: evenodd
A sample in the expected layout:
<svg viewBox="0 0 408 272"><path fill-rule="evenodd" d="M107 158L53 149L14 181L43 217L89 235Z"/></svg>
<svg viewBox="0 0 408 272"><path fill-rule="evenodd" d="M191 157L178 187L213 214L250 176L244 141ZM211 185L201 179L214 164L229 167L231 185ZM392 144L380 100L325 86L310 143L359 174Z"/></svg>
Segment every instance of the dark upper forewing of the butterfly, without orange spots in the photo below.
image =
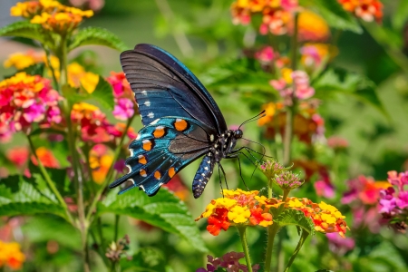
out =
<svg viewBox="0 0 408 272"><path fill-rule="evenodd" d="M121 53L121 66L131 83L143 125L165 116L189 118L209 132L227 130L217 103L197 77L174 56L151 44Z"/></svg>

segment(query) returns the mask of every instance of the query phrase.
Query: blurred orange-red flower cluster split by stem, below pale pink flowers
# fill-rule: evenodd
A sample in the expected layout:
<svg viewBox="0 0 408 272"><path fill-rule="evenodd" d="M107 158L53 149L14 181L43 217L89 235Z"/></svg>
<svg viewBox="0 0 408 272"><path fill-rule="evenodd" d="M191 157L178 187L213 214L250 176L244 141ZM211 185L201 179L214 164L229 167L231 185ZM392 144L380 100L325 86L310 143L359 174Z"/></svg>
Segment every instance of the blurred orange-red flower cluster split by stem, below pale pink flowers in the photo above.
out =
<svg viewBox="0 0 408 272"><path fill-rule="evenodd" d="M287 112L282 102L270 102L263 106L266 111L265 117L257 121L258 125L266 126L265 137L274 139L277 132L285 134ZM314 100L300 102L298 112L294 119L294 135L299 141L310 144L312 140L321 137L325 132L325 121L316 112L316 102Z"/></svg>

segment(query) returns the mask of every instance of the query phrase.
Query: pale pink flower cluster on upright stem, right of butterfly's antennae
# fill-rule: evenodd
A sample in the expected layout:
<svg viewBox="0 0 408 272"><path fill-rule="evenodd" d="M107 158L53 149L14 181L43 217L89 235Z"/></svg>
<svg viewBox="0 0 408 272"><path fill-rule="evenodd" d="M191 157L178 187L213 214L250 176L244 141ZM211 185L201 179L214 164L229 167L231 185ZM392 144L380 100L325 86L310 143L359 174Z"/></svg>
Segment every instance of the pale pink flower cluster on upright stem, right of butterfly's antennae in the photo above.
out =
<svg viewBox="0 0 408 272"><path fill-rule="evenodd" d="M294 89L295 97L299 100L306 100L315 94L315 89L309 85L309 76L304 71L293 71L290 73L290 80L281 78L279 80L271 80L269 83L285 99L287 105L292 104Z"/></svg>

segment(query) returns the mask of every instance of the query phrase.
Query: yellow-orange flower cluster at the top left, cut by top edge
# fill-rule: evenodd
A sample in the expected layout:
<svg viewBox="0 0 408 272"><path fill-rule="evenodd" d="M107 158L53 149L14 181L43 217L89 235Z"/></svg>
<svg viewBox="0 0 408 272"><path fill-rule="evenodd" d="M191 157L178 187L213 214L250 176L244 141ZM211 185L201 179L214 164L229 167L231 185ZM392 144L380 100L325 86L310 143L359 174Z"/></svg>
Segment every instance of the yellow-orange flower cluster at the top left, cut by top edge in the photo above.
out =
<svg viewBox="0 0 408 272"><path fill-rule="evenodd" d="M93 11L83 11L54 0L39 0L17 3L12 7L11 15L28 18L30 23L41 24L46 30L67 34L77 28L84 17L91 17Z"/></svg>

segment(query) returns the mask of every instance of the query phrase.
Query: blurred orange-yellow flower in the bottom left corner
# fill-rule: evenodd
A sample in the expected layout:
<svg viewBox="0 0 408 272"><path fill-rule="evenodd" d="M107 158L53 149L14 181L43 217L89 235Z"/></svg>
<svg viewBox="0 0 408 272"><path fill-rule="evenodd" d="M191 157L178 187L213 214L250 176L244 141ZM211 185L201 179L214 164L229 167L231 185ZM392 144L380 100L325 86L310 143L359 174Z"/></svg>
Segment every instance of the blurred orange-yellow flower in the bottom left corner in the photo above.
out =
<svg viewBox="0 0 408 272"><path fill-rule="evenodd" d="M7 266L12 269L20 269L24 260L25 256L21 252L19 244L15 242L5 243L0 240L0 268Z"/></svg>

